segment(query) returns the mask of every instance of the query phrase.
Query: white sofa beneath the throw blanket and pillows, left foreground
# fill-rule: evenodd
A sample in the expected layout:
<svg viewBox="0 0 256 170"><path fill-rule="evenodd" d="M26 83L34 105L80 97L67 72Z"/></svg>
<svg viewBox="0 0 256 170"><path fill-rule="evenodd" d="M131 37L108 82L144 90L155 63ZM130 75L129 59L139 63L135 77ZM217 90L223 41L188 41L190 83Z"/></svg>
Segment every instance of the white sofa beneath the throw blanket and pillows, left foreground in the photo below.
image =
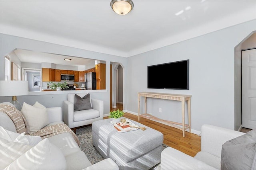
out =
<svg viewBox="0 0 256 170"><path fill-rule="evenodd" d="M9 102L4 102L2 104L13 106ZM63 123L61 107L47 108L47 112L50 121L47 126ZM14 123L10 117L2 111L0 111L0 126L8 131L16 132ZM118 166L112 159L105 159L92 165L84 152L82 152L80 147L77 145L71 133L61 133L49 137L48 140L62 151L66 159L68 170L118 170ZM34 167L31 167L31 169L34 169Z"/></svg>

